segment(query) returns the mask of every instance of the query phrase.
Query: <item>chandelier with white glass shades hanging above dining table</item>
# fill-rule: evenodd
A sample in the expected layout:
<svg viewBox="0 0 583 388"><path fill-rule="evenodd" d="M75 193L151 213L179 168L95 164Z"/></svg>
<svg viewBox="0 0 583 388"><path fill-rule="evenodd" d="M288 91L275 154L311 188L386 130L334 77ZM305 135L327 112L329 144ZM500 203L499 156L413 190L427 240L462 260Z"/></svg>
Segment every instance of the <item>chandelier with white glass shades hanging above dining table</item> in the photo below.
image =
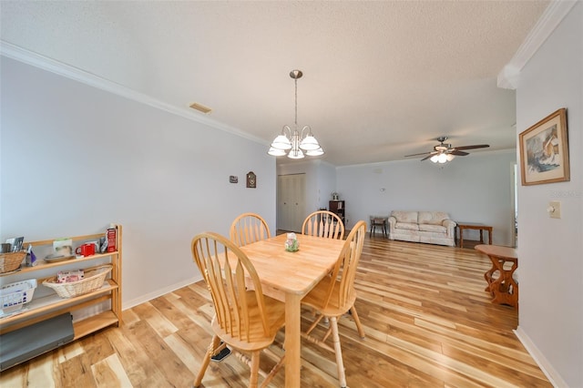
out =
<svg viewBox="0 0 583 388"><path fill-rule="evenodd" d="M281 135L273 139L270 150L267 152L271 156L281 157L287 154L288 158L301 159L304 156L317 157L324 153L318 140L313 137L310 126L304 126L302 130L298 129L298 78L302 78L302 76L303 73L300 70L292 70L290 72L290 77L295 82L295 118L293 121L293 129L287 125L281 128Z"/></svg>

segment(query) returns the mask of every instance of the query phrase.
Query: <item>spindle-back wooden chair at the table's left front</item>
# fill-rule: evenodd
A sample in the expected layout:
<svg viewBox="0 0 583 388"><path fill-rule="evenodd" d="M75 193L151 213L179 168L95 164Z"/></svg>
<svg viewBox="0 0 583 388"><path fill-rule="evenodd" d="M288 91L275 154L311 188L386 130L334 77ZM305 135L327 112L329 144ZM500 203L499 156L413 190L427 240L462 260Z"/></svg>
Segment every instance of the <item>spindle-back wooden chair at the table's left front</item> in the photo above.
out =
<svg viewBox="0 0 583 388"><path fill-rule="evenodd" d="M251 261L233 242L220 234L206 232L192 239L192 257L199 267L212 297L215 315L210 323L214 335L194 381L202 383L210 358L227 345L251 367L249 386L267 386L283 365L285 355L269 349L285 323L285 304L261 292L261 281ZM246 279L253 290L246 287ZM278 360L266 373L260 369L261 351ZM247 354L251 353L251 359Z"/></svg>

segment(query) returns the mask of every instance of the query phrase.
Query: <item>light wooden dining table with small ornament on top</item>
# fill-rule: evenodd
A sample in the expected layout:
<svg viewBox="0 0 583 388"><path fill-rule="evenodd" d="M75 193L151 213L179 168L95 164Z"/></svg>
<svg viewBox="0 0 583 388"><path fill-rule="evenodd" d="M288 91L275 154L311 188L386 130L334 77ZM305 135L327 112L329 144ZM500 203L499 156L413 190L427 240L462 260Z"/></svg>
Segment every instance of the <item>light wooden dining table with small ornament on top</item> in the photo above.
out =
<svg viewBox="0 0 583 388"><path fill-rule="evenodd" d="M281 234L241 247L261 280L263 294L285 302L285 386L300 387L301 301L340 257L344 240L297 234L300 250L284 248Z"/></svg>

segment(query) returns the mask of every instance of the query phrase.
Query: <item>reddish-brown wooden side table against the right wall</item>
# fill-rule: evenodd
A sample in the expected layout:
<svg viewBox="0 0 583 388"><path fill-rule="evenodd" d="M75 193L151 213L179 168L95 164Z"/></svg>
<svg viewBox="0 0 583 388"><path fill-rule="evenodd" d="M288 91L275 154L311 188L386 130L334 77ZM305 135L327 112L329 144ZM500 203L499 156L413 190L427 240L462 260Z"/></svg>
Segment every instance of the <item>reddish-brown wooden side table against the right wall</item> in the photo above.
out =
<svg viewBox="0 0 583 388"><path fill-rule="evenodd" d="M514 271L517 271L518 268L517 250L510 247L484 244L476 245L475 249L485 253L492 261L492 268L484 274L484 279L488 283L485 291L489 291L492 295L492 302L517 307L518 284L512 277ZM506 262L512 263L510 270L504 268ZM499 275L494 278L496 271L499 272Z"/></svg>

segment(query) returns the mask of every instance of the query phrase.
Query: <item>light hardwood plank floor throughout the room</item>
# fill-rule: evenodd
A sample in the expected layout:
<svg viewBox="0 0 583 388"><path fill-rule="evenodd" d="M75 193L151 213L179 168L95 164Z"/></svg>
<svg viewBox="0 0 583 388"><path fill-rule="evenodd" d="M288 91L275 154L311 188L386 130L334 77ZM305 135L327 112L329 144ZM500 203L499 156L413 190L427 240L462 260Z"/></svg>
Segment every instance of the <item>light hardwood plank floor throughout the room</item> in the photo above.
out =
<svg viewBox="0 0 583 388"><path fill-rule="evenodd" d="M365 241L356 308L366 338L340 320L348 385L359 387L548 387L512 332L517 311L484 291L486 256L475 250L381 237ZM210 342L202 282L124 311L110 328L2 373L7 387L189 387ZM312 319L306 311L305 329ZM283 334L273 346L281 352ZM279 346L278 346L279 345ZM262 362L270 364L267 355ZM236 357L211 362L206 387L244 387ZM284 371L271 386L282 387ZM302 387L338 386L334 355L302 341Z"/></svg>

